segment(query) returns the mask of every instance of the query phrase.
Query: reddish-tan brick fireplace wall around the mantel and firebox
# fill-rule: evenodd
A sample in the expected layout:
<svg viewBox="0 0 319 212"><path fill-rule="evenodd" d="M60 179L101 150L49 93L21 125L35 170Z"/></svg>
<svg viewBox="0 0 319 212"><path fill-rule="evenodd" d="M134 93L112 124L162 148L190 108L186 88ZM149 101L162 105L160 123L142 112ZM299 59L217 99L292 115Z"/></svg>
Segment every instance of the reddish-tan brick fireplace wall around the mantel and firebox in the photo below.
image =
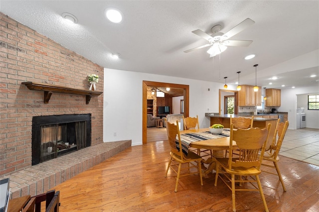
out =
<svg viewBox="0 0 319 212"><path fill-rule="evenodd" d="M36 116L91 114L91 147L102 144L103 94L88 102L82 95L56 92L45 104L43 91L29 90L22 83L88 90L87 76L97 74L96 90L103 92L103 67L0 15L0 177L31 167L32 119Z"/></svg>

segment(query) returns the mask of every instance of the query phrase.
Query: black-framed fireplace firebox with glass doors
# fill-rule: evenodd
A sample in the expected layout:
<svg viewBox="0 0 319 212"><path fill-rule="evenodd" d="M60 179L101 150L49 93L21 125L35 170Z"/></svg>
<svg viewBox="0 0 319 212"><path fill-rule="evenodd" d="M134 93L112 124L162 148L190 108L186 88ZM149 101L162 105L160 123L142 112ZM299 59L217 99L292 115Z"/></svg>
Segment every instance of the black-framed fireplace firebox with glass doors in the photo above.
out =
<svg viewBox="0 0 319 212"><path fill-rule="evenodd" d="M34 116L32 165L91 146L91 114Z"/></svg>

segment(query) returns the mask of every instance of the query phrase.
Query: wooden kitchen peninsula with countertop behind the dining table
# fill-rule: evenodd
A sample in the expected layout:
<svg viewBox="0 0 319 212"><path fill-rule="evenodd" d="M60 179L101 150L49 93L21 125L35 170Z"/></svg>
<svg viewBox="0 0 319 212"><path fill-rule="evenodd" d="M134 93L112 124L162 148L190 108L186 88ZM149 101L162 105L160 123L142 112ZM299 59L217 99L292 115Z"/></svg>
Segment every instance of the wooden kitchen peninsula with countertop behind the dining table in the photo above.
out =
<svg viewBox="0 0 319 212"><path fill-rule="evenodd" d="M214 113L205 113L205 116L210 118L210 126L215 124L215 123L219 123L219 124L222 124L225 128L230 128L230 114L216 115ZM252 115L234 115L234 114L232 114L232 117L235 117L235 118L236 117L250 118L251 116ZM254 117L253 127L265 128L265 127L267 127L268 123L271 123L270 134L269 134L266 148L268 148L271 145L271 142L273 140L277 120L278 120L278 117L277 118Z"/></svg>

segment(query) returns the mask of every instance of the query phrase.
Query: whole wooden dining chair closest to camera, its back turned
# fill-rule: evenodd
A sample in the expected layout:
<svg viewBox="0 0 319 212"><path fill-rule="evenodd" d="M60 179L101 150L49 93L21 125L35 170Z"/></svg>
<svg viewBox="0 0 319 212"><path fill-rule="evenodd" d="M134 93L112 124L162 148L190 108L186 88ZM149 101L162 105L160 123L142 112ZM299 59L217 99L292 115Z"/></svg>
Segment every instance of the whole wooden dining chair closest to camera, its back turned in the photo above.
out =
<svg viewBox="0 0 319 212"><path fill-rule="evenodd" d="M268 212L259 175L261 174L260 166L270 134L270 128L271 123L268 124L267 128L263 129L249 128L234 130L234 124L230 124L229 158L216 158L215 186L217 186L217 179L219 177L232 191L233 212L236 211L236 191L259 191L265 210ZM232 151L234 141L240 149L240 154L238 157L233 158ZM259 153L261 157L258 156ZM237 176L237 178L235 178L235 176ZM245 176L245 178L242 179L241 176ZM231 184L229 184L229 182L231 182ZM236 183L243 184L245 182L249 183L245 188L236 185Z"/></svg>

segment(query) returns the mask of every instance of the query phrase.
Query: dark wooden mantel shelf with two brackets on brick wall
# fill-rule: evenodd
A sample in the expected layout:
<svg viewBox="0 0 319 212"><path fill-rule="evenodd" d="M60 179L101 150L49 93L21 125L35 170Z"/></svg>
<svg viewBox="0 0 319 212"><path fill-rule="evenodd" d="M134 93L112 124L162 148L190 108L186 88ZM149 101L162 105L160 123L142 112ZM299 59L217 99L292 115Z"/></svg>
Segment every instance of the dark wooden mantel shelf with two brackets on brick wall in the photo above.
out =
<svg viewBox="0 0 319 212"><path fill-rule="evenodd" d="M44 104L48 104L53 92L65 93L65 94L75 94L86 96L86 104L88 105L92 96L100 96L103 92L90 91L84 89L68 88L63 86L55 86L44 83L34 83L34 82L22 82L29 90L34 91L44 91Z"/></svg>

